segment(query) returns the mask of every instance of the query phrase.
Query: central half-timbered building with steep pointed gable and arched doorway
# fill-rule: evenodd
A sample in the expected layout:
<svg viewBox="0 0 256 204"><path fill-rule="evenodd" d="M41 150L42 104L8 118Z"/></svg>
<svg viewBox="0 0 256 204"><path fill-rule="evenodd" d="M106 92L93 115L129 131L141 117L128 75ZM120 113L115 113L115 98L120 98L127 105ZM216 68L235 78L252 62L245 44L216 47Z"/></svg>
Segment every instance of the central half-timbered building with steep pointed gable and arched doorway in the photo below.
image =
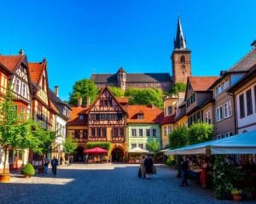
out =
<svg viewBox="0 0 256 204"><path fill-rule="evenodd" d="M111 142L112 161L126 154L126 111L109 89L103 88L88 112L88 141Z"/></svg>

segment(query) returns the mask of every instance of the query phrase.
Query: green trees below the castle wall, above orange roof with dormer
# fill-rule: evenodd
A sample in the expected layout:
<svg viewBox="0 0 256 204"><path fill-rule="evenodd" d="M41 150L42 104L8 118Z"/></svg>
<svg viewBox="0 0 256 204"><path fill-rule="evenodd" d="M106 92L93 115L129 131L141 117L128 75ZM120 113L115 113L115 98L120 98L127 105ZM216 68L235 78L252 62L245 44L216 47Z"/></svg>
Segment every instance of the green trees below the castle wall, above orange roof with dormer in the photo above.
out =
<svg viewBox="0 0 256 204"><path fill-rule="evenodd" d="M163 93L159 88L128 88L125 91L131 105L156 105L163 108Z"/></svg>

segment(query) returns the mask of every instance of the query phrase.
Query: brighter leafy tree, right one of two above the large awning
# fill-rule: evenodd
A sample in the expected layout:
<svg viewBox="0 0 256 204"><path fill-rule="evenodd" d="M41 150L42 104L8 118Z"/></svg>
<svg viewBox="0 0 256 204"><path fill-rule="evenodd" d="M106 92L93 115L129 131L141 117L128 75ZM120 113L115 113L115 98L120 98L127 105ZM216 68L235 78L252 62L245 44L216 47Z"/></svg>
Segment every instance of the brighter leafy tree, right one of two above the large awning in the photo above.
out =
<svg viewBox="0 0 256 204"><path fill-rule="evenodd" d="M189 144L196 144L211 140L213 126L207 122L194 123L189 127Z"/></svg>

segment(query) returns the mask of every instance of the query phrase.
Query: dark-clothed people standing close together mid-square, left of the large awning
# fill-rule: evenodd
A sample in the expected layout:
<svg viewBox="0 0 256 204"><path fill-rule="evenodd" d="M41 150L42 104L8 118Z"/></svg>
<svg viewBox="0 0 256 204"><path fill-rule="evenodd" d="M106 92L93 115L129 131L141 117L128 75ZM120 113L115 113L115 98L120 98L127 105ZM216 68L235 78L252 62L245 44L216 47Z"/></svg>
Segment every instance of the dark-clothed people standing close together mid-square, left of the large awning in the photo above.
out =
<svg viewBox="0 0 256 204"><path fill-rule="evenodd" d="M139 178L150 179L150 175L153 173L154 163L150 155L142 156L140 160L140 168L138 172Z"/></svg>

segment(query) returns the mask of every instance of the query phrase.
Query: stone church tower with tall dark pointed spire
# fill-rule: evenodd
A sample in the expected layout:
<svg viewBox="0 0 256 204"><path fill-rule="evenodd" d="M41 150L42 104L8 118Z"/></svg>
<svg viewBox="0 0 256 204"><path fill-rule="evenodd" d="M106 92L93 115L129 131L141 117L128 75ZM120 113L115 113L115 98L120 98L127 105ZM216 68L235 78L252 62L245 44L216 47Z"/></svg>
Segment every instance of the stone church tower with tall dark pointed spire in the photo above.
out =
<svg viewBox="0 0 256 204"><path fill-rule="evenodd" d="M177 34L174 40L172 52L172 75L173 84L176 82L187 82L191 76L191 51L187 48L186 39L183 35L183 28L180 19L177 20Z"/></svg>

